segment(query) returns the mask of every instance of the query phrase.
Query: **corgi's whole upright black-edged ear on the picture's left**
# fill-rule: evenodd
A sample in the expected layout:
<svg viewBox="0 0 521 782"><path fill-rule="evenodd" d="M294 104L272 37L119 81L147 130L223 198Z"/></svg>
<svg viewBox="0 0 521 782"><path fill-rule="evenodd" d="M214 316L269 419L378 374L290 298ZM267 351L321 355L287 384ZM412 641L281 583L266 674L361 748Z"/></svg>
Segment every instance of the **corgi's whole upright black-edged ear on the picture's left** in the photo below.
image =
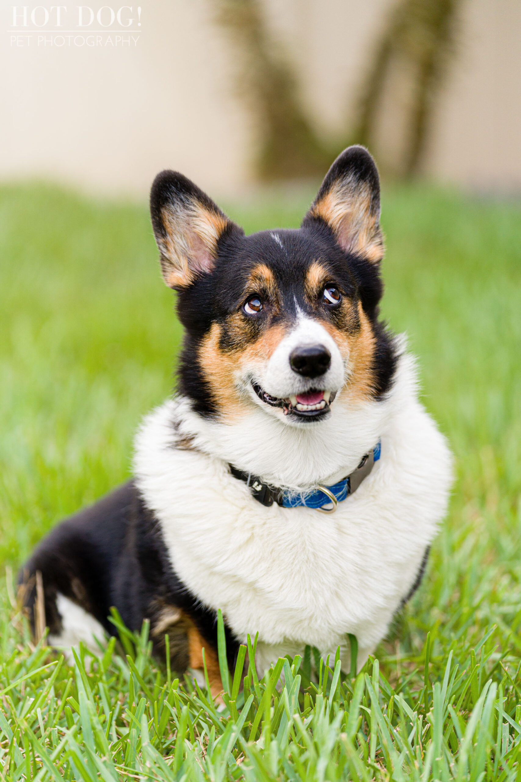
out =
<svg viewBox="0 0 521 782"><path fill-rule="evenodd" d="M177 171L162 171L155 178L150 214L162 276L174 289L187 288L209 274L216 263L219 239L232 230L241 231L208 195Z"/></svg>

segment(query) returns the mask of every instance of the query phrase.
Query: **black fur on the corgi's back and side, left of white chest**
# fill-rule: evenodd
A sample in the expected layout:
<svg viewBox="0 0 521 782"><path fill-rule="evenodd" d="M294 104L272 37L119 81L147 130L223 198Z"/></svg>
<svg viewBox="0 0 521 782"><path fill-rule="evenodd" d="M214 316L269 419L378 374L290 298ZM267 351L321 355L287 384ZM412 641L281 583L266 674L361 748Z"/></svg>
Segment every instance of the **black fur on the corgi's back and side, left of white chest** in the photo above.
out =
<svg viewBox="0 0 521 782"><path fill-rule="evenodd" d="M155 634L162 612L178 608L216 648L216 612L205 608L173 572L159 525L133 481L55 527L20 571L20 583L34 583L37 571L43 580L51 633L61 630L56 608L60 592L95 616L111 635L116 633L108 619L111 606L116 606L130 630L141 630L143 620L150 619L156 651L164 649L164 635ZM30 616L35 597L35 590L28 590ZM177 665L187 662L182 635L171 650ZM237 647L227 629L230 665L234 665Z"/></svg>

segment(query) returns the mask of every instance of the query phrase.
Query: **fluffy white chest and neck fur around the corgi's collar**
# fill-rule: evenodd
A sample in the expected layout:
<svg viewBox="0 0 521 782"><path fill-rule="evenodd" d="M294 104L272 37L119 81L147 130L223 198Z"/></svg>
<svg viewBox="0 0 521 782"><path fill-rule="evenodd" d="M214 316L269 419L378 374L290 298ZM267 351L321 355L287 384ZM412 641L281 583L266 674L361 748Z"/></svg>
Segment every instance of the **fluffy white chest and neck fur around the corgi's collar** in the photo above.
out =
<svg viewBox="0 0 521 782"><path fill-rule="evenodd" d="M333 455L322 438L316 449L324 449L323 459L314 453L307 460L327 464L325 475L315 468L316 483L347 475L378 439L382 444L373 472L332 515L265 508L228 472L232 462L270 480L278 473L279 485L294 486L291 465L306 461L298 448L312 447L302 430L268 419L252 442L251 424L199 424L186 400L177 400L154 411L137 437L137 486L159 519L173 568L203 604L222 608L240 640L259 632L260 668L302 653L305 644L323 655L340 645L345 667L346 633L358 639L361 665L409 593L446 510L451 457L417 400L408 357L400 359L387 400L331 418ZM176 448L180 431L200 450ZM271 456L264 443L275 448ZM270 475L259 469L265 464Z"/></svg>

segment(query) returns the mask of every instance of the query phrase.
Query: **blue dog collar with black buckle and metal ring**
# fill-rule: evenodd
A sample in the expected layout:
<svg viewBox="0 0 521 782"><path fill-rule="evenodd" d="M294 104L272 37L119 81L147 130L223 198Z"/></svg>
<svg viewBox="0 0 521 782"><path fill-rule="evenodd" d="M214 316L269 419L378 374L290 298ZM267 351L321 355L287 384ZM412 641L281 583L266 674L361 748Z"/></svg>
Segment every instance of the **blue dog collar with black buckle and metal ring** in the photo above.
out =
<svg viewBox="0 0 521 782"><path fill-rule="evenodd" d="M251 472L244 472L233 465L230 465L230 472L235 478L244 481L246 486L252 490L252 496L262 505L269 506L276 502L281 508L315 508L322 513L333 513L337 509L337 504L355 493L363 479L369 475L373 469L375 461L380 459L381 443L364 454L359 466L334 486L317 486L316 489L295 494L285 489L279 489L277 486L270 486ZM330 507L327 507L330 506Z"/></svg>

